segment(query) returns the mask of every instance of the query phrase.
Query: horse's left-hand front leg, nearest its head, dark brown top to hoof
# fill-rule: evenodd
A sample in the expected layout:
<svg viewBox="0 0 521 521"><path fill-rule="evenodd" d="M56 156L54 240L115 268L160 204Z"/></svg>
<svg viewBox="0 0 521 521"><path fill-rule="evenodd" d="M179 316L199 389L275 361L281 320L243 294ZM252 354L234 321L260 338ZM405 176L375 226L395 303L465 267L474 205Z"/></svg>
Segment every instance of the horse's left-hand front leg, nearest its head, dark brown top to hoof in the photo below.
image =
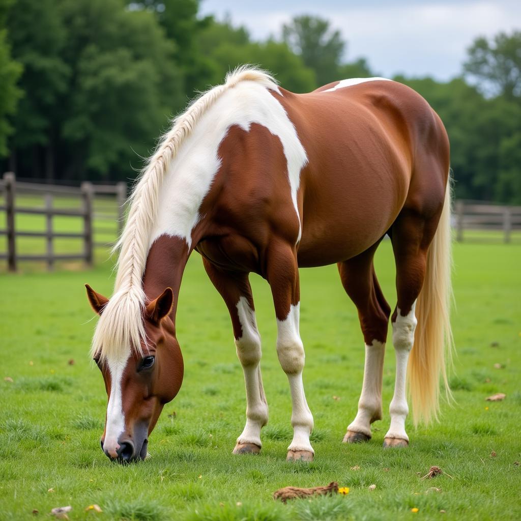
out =
<svg viewBox="0 0 521 521"><path fill-rule="evenodd" d="M203 264L230 312L237 356L244 373L246 425L233 454L258 453L262 448L261 429L268 423L268 404L261 376L261 336L248 275L222 270L205 258Z"/></svg>

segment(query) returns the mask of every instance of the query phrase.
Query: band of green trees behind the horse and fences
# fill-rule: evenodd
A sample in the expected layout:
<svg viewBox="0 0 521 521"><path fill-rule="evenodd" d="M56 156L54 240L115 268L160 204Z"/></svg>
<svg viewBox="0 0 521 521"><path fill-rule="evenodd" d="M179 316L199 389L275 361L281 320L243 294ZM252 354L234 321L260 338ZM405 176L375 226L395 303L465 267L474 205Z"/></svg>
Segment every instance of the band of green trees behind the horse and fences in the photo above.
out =
<svg viewBox="0 0 521 521"><path fill-rule="evenodd" d="M236 65L294 92L378 76L346 62L328 20L293 18L255 41L199 0L0 0L0 166L19 177L128 180L197 91ZM438 112L457 197L521 204L521 32L476 39L461 75L395 80Z"/></svg>

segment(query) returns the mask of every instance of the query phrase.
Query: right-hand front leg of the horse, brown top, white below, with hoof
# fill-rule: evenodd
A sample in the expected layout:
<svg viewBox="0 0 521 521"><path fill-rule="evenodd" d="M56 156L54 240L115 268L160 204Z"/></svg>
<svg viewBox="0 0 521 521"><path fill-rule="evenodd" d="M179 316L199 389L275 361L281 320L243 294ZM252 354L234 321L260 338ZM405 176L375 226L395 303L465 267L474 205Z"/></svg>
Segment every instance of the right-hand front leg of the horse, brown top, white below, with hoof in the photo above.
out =
<svg viewBox="0 0 521 521"><path fill-rule="evenodd" d="M302 381L305 355L299 332L299 268L294 247L272 241L267 279L277 316L277 355L288 377L292 400L293 440L288 447L287 460L313 461L315 451L309 442L313 430L313 415L307 406Z"/></svg>

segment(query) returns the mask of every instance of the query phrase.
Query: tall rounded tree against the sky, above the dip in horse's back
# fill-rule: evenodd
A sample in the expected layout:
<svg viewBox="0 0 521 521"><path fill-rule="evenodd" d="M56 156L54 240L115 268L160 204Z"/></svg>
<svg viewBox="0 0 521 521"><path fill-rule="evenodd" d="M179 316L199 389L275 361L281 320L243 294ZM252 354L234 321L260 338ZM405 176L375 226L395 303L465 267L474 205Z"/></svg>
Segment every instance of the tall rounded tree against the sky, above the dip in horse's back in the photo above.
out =
<svg viewBox="0 0 521 521"><path fill-rule="evenodd" d="M282 27L282 38L313 69L316 81L324 85L341 79L339 66L345 43L340 32L330 28L329 20L315 16L297 16Z"/></svg>

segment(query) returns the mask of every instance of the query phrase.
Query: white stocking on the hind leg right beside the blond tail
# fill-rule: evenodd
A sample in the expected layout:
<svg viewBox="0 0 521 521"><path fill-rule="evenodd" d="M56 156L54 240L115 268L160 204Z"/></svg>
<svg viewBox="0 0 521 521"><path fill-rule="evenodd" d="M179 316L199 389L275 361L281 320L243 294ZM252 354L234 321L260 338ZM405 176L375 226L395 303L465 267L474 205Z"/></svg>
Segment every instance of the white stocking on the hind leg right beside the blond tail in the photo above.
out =
<svg viewBox="0 0 521 521"><path fill-rule="evenodd" d="M414 344L414 330L416 329L416 316L414 310L416 301L407 315L402 316L400 308L396 321L392 325L392 342L396 353L396 382L394 384L394 395L389 405L391 414L391 426L386 438L398 438L409 441L405 432L405 418L409 413L407 398L405 396L405 377L407 374L407 361L409 353Z"/></svg>

